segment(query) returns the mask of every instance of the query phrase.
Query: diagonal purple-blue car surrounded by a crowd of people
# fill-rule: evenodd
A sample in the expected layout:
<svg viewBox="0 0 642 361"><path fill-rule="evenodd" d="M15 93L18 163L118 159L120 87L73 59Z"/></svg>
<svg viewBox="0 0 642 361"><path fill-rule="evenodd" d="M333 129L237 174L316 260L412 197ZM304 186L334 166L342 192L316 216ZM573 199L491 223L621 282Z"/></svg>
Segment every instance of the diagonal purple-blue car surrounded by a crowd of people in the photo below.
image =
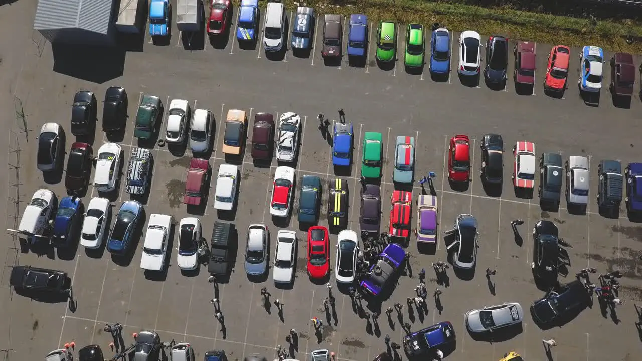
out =
<svg viewBox="0 0 642 361"><path fill-rule="evenodd" d="M379 260L370 267L360 283L361 291L367 295L381 294L406 261L406 252L397 243L390 243L379 254Z"/></svg>

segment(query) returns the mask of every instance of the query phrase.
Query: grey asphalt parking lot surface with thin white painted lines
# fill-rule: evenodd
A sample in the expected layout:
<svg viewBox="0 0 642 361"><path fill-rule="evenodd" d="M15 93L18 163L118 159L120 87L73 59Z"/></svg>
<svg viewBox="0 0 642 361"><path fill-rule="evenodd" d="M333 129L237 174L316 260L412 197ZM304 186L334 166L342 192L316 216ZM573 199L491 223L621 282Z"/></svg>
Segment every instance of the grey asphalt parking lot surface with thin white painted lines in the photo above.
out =
<svg viewBox="0 0 642 361"><path fill-rule="evenodd" d="M18 7L21 6L21 7ZM24 7L22 7L24 6ZM23 21L31 22L33 12L26 5L16 3L15 21L19 15ZM4 9L3 9L4 10ZM6 10L4 10L6 11ZM236 17L236 13L234 15ZM25 20L28 19L28 20ZM291 16L290 16L291 19ZM14 20L12 20L14 21ZM8 24L3 24L3 30ZM319 26L320 27L320 26ZM24 27L23 27L24 28ZM344 26L344 30L347 28ZM214 220L223 219L234 222L238 229L239 242L236 264L229 282L221 283L218 295L213 285L207 283L208 274L202 270L198 275L182 275L175 265L177 234L174 234L171 249L170 267L161 276L145 274L139 268L141 251L137 251L131 261L124 265L115 262L108 252L87 254L82 247L69 255L49 252L37 255L25 252L14 239L15 248L6 249L5 266L14 264L34 265L64 270L73 277L73 307L67 303L37 303L13 294L8 286L3 287L3 309L8 327L0 331L0 337L8 340L8 349L15 359L42 358L49 351L59 348L65 342L75 340L76 347L100 344L108 351L111 337L103 333L107 322L121 322L125 325L125 342L133 342L130 335L141 330L157 330L164 341L189 342L202 358L205 351L224 349L230 358L241 360L250 353L265 355L272 360L277 345L286 345L285 336L290 328L296 328L300 340L294 357L307 359L314 349L326 348L334 352L342 361L372 360L385 351L383 337L386 334L394 342L401 342L404 322L413 324L413 331L440 321L451 321L457 333L455 351L447 356L449 360L468 360L474 355L479 360L498 360L508 351L516 351L525 360L544 360L541 339L554 338L559 343L553 349L553 359L571 360L634 360L642 336L634 322L637 315L634 303L642 303L642 228L629 220L622 204L620 217L604 218L597 212L594 189L597 187L596 166L602 159L618 159L623 164L641 161L639 155L640 130L638 113L642 109L639 98L634 97L630 109L614 107L608 87L610 67L605 65L602 99L599 107L584 105L575 86L578 77L578 62L573 62L569 74L568 90L560 99L550 98L543 93L542 80L546 70L546 54L551 44L537 44L537 71L534 92L530 96L517 95L512 82L507 82L503 91L493 91L483 84L465 86L456 75L456 39L453 34L452 75L445 82L435 82L428 75L428 68L422 74L410 75L403 69L403 36L397 48L399 60L390 70L382 70L374 62L375 40L372 35L376 24L370 26L369 62L365 67L351 67L347 61L337 66L326 66L315 49L309 58L294 57L288 52L282 59L266 58L263 49L240 49L233 33L227 44L205 42L203 49L188 51L184 49L177 29L166 46L149 43L149 37L142 42L143 52L128 52L122 76L95 84L86 80L52 71L55 68L51 47L44 47L42 56L37 55L35 44L30 41L31 31L20 34L24 37L22 62L8 62L15 67L17 85L13 90L23 104L28 115L28 134L19 131L21 123L14 121L13 110L3 112L3 120L16 135L10 134L10 148L21 148L19 178L8 173L9 183L22 183L19 195L24 209L33 191L49 188L58 197L66 195L62 182L45 182L35 167L35 137L43 123L56 121L67 134L65 149L73 143L69 127L70 108L73 95L80 89L94 91L100 101L107 87L121 85L129 94L130 121L127 130L119 141L126 155L137 146L133 136L136 101L143 94L159 96L166 109L172 99L189 101L192 109L209 109L216 116L214 133L214 152L209 161L213 172L225 163L221 154L221 125L230 109L245 110L252 124L257 112L272 112L275 117L283 112L297 112L302 118L302 138L300 154L295 168L297 178L302 175L317 175L323 180L335 177L331 164L331 148L318 129L317 114L322 113L331 120L338 121L338 109L345 112L345 120L354 125L354 157L349 175L341 175L349 181L349 229L358 231L359 216L359 164L361 161L361 141L364 132L381 132L384 141L385 164L381 179L382 228L388 224L392 168L390 162L394 155L396 136L415 137L417 156L415 179L428 172L436 172L435 188L439 205L440 232L451 227L460 213L471 213L480 224L480 248L476 269L472 279L459 279L452 269L449 270L450 285L440 286L442 307L437 308L431 297L428 299L428 315L417 310L409 315L404 306L403 321L393 313L386 321L385 314L379 319L379 327L367 327L351 307L347 295L336 297L336 314L325 315L322 302L327 297L323 285L311 283L306 274L306 229L300 229L296 216L288 219L287 224L275 222L268 207L271 196L272 180L277 166L273 159L270 166L256 166L246 149L243 161L239 163L241 182L239 184L238 207L232 214L218 214L209 200L202 215L198 216L204 225L204 236L209 238ZM400 26L399 34L404 33ZM317 31L315 44L320 42ZM482 36L483 39L483 36ZM345 42L345 34L343 37ZM345 43L344 43L345 47ZM576 53L580 49L573 48ZM605 53L608 60L612 53ZM641 61L636 57L636 64ZM108 64L98 64L108 66ZM100 66L97 66L100 69ZM96 69L95 71L99 71ZM512 76L512 56L509 61L508 75ZM639 91L636 84L634 93ZM99 105L99 109L100 109ZM101 110L99 110L101 119ZM165 117L163 121L165 121ZM277 119L277 118L275 118ZM332 125L329 127L331 128ZM100 129L100 126L98 127ZM498 133L505 141L503 172L503 191L501 195L487 195L478 177L480 170L479 141L485 133ZM469 188L461 191L451 189L445 175L447 171L447 141L455 134L467 134L473 139L473 181ZM27 141L28 139L28 141ZM249 140L249 139L248 139ZM562 157L584 155L589 157L591 171L591 203L586 215L571 215L562 201L559 212L544 212L539 207L537 195L533 199L517 198L510 184L512 159L510 148L516 141L528 140L535 143L536 154L560 152ZM94 152L105 141L99 131L94 139ZM177 155L167 148L153 149L155 166L150 196L146 199L146 214L163 213L172 215L178 222L189 216L186 206L181 202L191 154ZM15 164L8 154L8 162ZM13 162L13 163L12 163ZM64 175L61 175L64 176ZM539 180L536 180L537 187ZM566 184L566 182L565 182ZM212 190L214 182L211 184ZM15 188L10 186L11 196ZM421 194L421 187L413 189L413 199ZM97 191L90 188L83 197L86 205ZM111 195L116 207L128 199L123 186ZM297 209L298 192L295 194ZM327 193L322 200L322 209L327 207ZM8 201L8 215L15 215L13 204ZM415 210L413 209L413 212ZM523 218L525 224L519 226L520 237L514 236L510 220ZM560 228L560 234L573 248L569 276L560 277L562 282L571 281L573 274L584 267L596 267L598 272L620 269L625 277L621 280L621 298L626 301L618 307L617 317L601 315L598 306L584 310L576 319L562 328L541 331L526 315L523 330L502 342L479 342L471 339L464 326L464 313L473 308L492 306L512 301L519 302L523 308L539 299L544 292L537 290L530 272L532 260L532 236L530 231L540 219L550 219ZM277 289L271 275L265 281L252 283L243 271L243 247L249 224L263 222L270 228L273 239L279 229L297 231L299 235L299 260L297 279L291 289ZM416 219L413 217L413 224ZM13 224L11 217L7 225ZM327 226L325 217L320 225ZM7 236L8 240L12 238ZM336 242L336 234L331 235L331 244ZM10 245L10 241L8 241ZM135 243L139 249L142 241ZM272 242L272 250L275 244ZM431 263L446 260L444 240L440 239L435 254L419 254L415 238L412 237L408 250L415 254L411 259L412 272L406 271L395 286L390 299L383 308L399 302L405 304L406 297L413 297L414 288L419 283L417 273L426 268L428 292L437 287ZM61 259L61 256L63 259ZM271 254L273 257L273 252ZM331 258L334 252L331 251ZM3 285L8 280L8 268L3 272ZM489 285L485 268L497 269ZM595 277L596 278L596 277ZM596 281L594 279L593 281ZM334 284L334 281L331 280ZM269 312L264 308L261 287L266 286L272 299L284 303L282 319L272 306ZM218 297L221 310L225 315L225 332L214 319L209 300ZM317 339L311 317L324 321L320 338ZM620 321L614 321L619 319ZM602 342L609 342L605 348ZM403 353L402 353L403 354ZM402 359L406 357L401 355Z"/></svg>

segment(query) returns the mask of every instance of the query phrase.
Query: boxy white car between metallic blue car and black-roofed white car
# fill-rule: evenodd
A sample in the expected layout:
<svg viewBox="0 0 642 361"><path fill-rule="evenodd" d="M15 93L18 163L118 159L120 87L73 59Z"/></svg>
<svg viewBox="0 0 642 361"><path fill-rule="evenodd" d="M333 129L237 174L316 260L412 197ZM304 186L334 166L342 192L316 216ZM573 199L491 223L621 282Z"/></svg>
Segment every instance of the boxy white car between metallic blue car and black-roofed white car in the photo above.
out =
<svg viewBox="0 0 642 361"><path fill-rule="evenodd" d="M161 271L165 263L165 252L171 227L171 216L152 213L147 224L141 269Z"/></svg>

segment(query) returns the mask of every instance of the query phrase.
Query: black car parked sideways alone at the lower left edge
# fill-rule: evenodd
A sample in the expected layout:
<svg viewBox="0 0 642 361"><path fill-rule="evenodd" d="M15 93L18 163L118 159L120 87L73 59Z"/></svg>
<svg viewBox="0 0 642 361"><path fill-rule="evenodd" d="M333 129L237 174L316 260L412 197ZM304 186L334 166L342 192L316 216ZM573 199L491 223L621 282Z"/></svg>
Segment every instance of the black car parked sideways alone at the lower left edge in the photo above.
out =
<svg viewBox="0 0 642 361"><path fill-rule="evenodd" d="M67 276L67 272L31 266L14 266L11 270L9 285L19 290L62 294L71 289L71 279Z"/></svg>

